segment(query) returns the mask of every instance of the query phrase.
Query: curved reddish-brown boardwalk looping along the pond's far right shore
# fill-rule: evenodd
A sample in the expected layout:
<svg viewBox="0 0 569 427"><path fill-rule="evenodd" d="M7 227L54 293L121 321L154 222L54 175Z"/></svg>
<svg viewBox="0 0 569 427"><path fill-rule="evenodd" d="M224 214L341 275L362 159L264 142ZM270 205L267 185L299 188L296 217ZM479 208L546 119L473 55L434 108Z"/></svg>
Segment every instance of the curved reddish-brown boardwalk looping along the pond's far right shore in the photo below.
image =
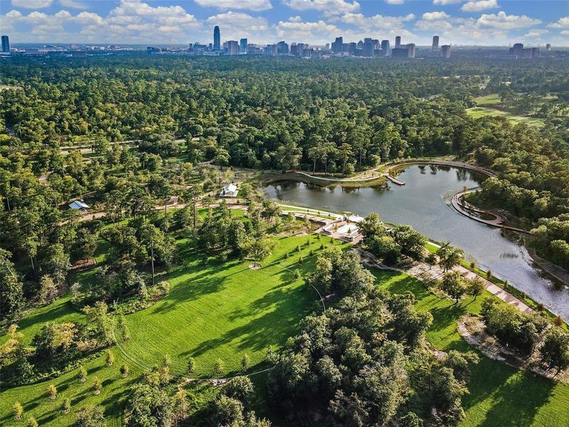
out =
<svg viewBox="0 0 569 427"><path fill-rule="evenodd" d="M463 162L447 162L445 160L417 160L417 161L393 164L392 166L385 169L385 177L389 179L391 182L393 182L393 184L405 185L405 181L397 179L395 178L395 176L391 176L391 172L394 169L398 169L400 167L420 166L428 164L432 164L434 166L459 167L461 169L467 169L469 171L478 172L479 174L484 174L489 177L496 176L494 172L491 172L488 169L484 169L482 167L477 167L472 164L467 164ZM472 206L471 204L462 200L463 196L472 193L473 191L476 191L476 189L469 189L467 191L461 191L457 194L454 194L454 196L452 196L452 201L451 201L452 207L456 209L460 214L467 216L470 219L474 219L474 221L484 223L488 226L504 228L506 230L517 231L519 233L530 234L529 231L523 230L523 228L516 228L504 225L504 222L506 222L506 217L504 215L496 214L496 212L493 211L485 211L484 209L478 209L477 207ZM482 215L491 216L492 218L485 219L482 218Z"/></svg>

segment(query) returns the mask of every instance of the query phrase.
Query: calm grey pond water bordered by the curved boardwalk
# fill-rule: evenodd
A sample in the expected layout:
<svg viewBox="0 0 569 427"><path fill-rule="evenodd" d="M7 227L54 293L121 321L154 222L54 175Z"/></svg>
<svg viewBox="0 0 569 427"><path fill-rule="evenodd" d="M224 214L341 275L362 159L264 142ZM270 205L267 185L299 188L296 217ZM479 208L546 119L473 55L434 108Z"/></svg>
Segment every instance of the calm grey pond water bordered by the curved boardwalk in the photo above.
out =
<svg viewBox="0 0 569 427"><path fill-rule="evenodd" d="M383 221L409 224L435 241L450 241L482 268L569 319L569 291L556 290L540 270L533 268L523 246L501 236L499 228L473 221L452 208L452 195L464 186L478 186L484 176L464 169L414 166L399 177L405 186L389 182L376 188L329 189L287 181L267 186L264 191L272 199L303 206L361 216L377 212Z"/></svg>

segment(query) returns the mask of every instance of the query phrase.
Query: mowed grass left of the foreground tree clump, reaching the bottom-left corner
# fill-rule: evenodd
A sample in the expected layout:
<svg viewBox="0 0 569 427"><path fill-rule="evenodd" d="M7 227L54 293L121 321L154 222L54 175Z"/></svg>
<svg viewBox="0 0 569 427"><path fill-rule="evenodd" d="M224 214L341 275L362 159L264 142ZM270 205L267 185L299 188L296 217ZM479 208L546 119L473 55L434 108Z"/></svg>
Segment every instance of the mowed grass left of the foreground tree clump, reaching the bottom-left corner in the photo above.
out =
<svg viewBox="0 0 569 427"><path fill-rule="evenodd" d="M308 240L312 246L306 245ZM57 379L1 390L0 426L25 426L28 416L34 416L40 426L67 427L75 422L74 411L85 405L105 406L110 425L118 426L129 389L139 382L144 367L159 365L164 354L172 358L172 374L180 376L186 374L189 357L196 358L195 376L201 378L218 376L213 373L218 358L225 364L221 376L240 373L243 354L251 359L249 372L263 369L267 349L280 349L288 337L298 332L302 317L312 310L321 310L317 292L302 278L296 280L294 270L308 274L321 243L333 243L324 237L317 241L314 235L280 237L275 241L275 252L262 262L262 268L251 270L250 261L223 263L211 258L203 264L188 241L179 240L184 263L160 278L169 280L169 294L152 307L126 316L132 338L121 346L127 356L115 346L112 351L116 360L112 367L107 367L104 356L88 362L84 384L75 378L78 369L73 369ZM300 253L297 246L301 246ZM300 256L302 265L298 263ZM90 280L92 271L79 277ZM29 344L45 322L76 322L82 318L70 305L69 297L62 297L33 310L19 323L20 332ZM5 339L0 338L1 342ZM119 374L123 363L130 368L126 379ZM92 391L95 376L103 383L99 396ZM262 380L255 382L261 384ZM54 401L47 396L49 384L58 388L58 398ZM262 394L264 391L260 390ZM65 398L71 399L73 405L67 415L60 411ZM14 421L12 406L16 401L23 405L24 421ZM261 408L262 405L260 402Z"/></svg>

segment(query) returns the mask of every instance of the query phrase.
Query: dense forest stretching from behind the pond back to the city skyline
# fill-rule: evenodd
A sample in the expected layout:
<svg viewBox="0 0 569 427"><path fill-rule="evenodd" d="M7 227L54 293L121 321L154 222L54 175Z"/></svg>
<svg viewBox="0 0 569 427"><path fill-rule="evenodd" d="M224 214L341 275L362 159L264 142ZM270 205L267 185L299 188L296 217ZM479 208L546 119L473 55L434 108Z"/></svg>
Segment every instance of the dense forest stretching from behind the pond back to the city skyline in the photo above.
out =
<svg viewBox="0 0 569 427"><path fill-rule="evenodd" d="M569 265L565 59L14 58L1 78L10 88L0 92L5 212L36 209L27 205L37 186L23 183L46 172L55 172L50 185L33 192L55 206L109 192L109 169L155 170L172 156L193 165L351 174L393 159L453 154L496 171L479 203L526 218L536 226L538 251ZM470 118L464 110L474 97L492 92L546 125ZM144 157L111 149L124 140L138 142ZM60 147L76 142L106 157L91 167L77 152L64 157ZM3 223L13 229L13 221ZM12 240L2 238L21 254Z"/></svg>

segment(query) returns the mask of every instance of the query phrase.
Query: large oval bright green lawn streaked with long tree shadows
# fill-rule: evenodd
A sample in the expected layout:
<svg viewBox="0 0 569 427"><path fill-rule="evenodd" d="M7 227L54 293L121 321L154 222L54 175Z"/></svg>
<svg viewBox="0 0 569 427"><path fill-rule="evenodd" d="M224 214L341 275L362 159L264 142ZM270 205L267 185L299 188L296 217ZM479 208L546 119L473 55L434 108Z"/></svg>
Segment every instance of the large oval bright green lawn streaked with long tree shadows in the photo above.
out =
<svg viewBox="0 0 569 427"><path fill-rule="evenodd" d="M311 239L316 250L317 241ZM213 365L218 358L226 372L237 370L245 353L252 364L262 362L267 349L284 343L314 307L314 290L294 280L299 268L294 249L300 243L308 258L306 240L277 239L277 251L260 270L238 260L189 261L168 275L172 288L164 300L127 317L132 339L125 351L149 367L168 353L177 374L184 374L188 357L195 357L197 376L217 376ZM285 259L285 252L294 255Z"/></svg>

